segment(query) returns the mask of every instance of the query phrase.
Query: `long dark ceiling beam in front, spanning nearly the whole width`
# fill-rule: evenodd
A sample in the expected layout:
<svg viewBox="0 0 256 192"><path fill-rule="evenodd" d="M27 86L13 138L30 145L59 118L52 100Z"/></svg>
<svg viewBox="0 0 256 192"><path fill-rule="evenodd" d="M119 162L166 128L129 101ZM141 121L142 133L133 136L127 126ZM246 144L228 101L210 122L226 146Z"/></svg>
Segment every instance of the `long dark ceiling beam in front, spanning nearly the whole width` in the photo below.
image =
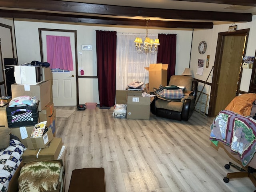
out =
<svg viewBox="0 0 256 192"><path fill-rule="evenodd" d="M53 12L64 12L67 14L99 14L108 16L140 16L146 18L181 19L181 20L209 20L209 21L229 21L229 22L249 22L252 21L250 13L233 12L213 12L197 10L174 10L139 8L127 6L113 6L102 4L89 4L81 2L68 2L59 0L0 0L0 7L43 10Z"/></svg>

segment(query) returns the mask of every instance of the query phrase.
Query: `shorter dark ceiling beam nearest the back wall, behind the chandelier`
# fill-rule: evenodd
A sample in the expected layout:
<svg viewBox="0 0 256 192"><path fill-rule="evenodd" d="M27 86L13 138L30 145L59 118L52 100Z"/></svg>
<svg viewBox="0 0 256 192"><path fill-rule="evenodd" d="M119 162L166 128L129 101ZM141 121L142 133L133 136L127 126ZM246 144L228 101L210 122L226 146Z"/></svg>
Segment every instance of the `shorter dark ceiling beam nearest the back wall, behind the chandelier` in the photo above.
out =
<svg viewBox="0 0 256 192"><path fill-rule="evenodd" d="M75 22L75 23L87 23L87 24L146 26L146 21L141 19L81 16L81 15L73 15L73 14L57 14L57 13L31 12L31 11L0 10L0 17L38 19L38 20ZM212 22L180 22L180 21L150 20L148 22L148 26L161 27L161 28L212 29L213 23Z"/></svg>

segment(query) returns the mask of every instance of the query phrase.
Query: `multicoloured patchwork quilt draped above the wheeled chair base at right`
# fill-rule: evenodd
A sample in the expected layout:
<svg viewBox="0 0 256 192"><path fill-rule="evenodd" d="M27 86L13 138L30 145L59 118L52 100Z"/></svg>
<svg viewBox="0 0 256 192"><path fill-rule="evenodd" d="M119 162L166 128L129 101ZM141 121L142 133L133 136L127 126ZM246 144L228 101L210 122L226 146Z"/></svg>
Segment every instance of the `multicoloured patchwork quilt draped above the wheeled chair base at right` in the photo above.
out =
<svg viewBox="0 0 256 192"><path fill-rule="evenodd" d="M210 140L217 146L222 142L238 154L246 166L256 152L256 121L251 116L242 116L229 110L222 110L214 118Z"/></svg>

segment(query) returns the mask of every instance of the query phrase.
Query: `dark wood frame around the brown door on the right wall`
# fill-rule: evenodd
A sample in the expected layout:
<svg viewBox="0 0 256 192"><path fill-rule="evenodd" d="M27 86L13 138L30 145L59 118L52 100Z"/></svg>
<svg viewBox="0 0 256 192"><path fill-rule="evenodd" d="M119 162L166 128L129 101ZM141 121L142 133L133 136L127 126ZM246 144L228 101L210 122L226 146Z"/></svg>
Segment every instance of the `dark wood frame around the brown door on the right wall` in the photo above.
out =
<svg viewBox="0 0 256 192"><path fill-rule="evenodd" d="M209 117L214 117L216 98L217 98L217 94L218 94L217 93L218 80L220 78L220 68L221 68L221 60L222 60L225 36L245 36L246 40L245 40L244 52L243 52L243 57L244 57L246 55L246 47L247 47L247 42L248 42L249 31L250 31L250 29L242 29L242 30L237 30L236 32L221 32L218 34L216 55L215 55L215 61L214 61L214 70L213 70L213 75L212 75L212 86L211 86L209 110L208 110ZM241 58L241 68L240 68L240 74L239 74L238 85L237 85L237 90L236 90L236 96L238 96L238 94L239 94L242 72L243 72L243 68L242 68L242 58Z"/></svg>

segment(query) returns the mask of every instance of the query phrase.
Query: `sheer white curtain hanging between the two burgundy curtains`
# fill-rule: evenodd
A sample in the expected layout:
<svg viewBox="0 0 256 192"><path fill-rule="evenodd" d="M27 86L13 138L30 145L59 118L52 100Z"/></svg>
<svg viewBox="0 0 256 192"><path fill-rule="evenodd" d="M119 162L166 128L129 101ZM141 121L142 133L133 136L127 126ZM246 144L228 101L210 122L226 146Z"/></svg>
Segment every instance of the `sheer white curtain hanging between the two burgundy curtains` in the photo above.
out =
<svg viewBox="0 0 256 192"><path fill-rule="evenodd" d="M138 53L135 49L136 37L144 41L146 34L117 33L116 45L116 90L125 90L134 81L148 83L148 71L144 67L156 63L157 52L154 54ZM151 39L158 34L148 35Z"/></svg>

